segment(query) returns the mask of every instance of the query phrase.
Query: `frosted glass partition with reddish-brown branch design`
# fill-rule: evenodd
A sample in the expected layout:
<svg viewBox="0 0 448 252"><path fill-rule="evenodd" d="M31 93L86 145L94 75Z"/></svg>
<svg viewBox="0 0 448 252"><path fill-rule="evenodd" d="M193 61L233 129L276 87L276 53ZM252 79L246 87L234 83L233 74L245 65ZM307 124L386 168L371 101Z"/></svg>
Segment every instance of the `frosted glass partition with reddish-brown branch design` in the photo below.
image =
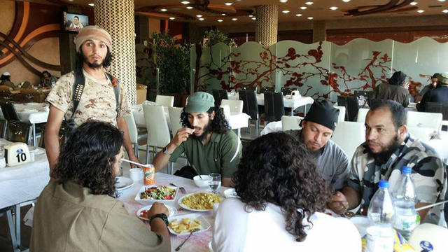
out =
<svg viewBox="0 0 448 252"><path fill-rule="evenodd" d="M195 91L295 87L304 96L336 102L337 95L373 90L394 71L403 71L415 97L433 73L448 71L448 43L428 37L412 43L356 38L345 45L279 41L269 47L247 42L230 48L219 43L193 46L190 64Z"/></svg>

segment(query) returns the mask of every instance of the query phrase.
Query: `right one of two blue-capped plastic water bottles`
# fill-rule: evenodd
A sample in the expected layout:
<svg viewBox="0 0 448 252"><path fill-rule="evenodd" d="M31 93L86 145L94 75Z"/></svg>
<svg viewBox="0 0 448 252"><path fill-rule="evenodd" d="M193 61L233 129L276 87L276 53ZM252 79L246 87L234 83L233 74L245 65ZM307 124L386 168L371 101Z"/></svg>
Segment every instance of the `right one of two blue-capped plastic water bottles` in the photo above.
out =
<svg viewBox="0 0 448 252"><path fill-rule="evenodd" d="M401 177L391 191L395 207L393 228L405 239L409 239L412 230L420 223L420 216L415 211L417 195L411 172L411 167L402 167Z"/></svg>

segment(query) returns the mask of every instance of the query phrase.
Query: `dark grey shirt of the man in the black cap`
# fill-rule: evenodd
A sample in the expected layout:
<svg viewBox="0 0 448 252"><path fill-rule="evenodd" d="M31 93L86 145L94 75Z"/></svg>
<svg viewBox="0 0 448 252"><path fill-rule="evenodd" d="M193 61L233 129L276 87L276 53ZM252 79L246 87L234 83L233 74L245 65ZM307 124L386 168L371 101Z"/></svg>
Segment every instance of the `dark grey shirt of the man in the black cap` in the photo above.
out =
<svg viewBox="0 0 448 252"><path fill-rule="evenodd" d="M295 139L302 142L300 137L302 130L288 130ZM341 190L349 179L349 158L337 144L329 140L321 149L317 157L317 166L323 179L335 190Z"/></svg>

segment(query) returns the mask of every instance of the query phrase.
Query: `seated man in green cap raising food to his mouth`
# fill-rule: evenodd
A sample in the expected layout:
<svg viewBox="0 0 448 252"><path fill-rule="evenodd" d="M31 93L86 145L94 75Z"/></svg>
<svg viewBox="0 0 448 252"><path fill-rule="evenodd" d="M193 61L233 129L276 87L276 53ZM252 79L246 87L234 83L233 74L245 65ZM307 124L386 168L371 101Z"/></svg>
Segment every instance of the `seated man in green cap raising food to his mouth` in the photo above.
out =
<svg viewBox="0 0 448 252"><path fill-rule="evenodd" d="M223 111L215 106L214 97L207 92L195 92L181 114L183 128L172 141L155 155L155 169L162 169L168 162L176 162L186 153L188 162L200 174L221 174L223 186L230 186L241 156L241 141L230 130Z"/></svg>

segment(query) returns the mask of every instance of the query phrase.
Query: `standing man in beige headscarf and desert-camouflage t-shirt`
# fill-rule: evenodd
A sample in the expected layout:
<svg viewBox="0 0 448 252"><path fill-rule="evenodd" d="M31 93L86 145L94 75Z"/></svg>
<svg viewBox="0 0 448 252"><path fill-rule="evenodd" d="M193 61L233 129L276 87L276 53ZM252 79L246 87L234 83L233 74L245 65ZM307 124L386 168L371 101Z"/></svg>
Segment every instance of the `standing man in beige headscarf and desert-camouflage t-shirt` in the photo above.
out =
<svg viewBox="0 0 448 252"><path fill-rule="evenodd" d="M46 99L46 102L51 105L44 139L50 169L57 163L58 136L64 116L66 120L73 118L76 127L88 120L101 120L118 127L124 132L123 145L127 154L131 160L139 162L132 149L127 125L123 118L131 113L126 90L123 83L106 73L104 69L110 66L112 61L111 41L111 35L96 25L84 27L74 39L76 69L61 76ZM78 76L84 76L85 83L76 111L73 111L73 84L76 72ZM116 102L117 90L119 90L118 102Z"/></svg>

